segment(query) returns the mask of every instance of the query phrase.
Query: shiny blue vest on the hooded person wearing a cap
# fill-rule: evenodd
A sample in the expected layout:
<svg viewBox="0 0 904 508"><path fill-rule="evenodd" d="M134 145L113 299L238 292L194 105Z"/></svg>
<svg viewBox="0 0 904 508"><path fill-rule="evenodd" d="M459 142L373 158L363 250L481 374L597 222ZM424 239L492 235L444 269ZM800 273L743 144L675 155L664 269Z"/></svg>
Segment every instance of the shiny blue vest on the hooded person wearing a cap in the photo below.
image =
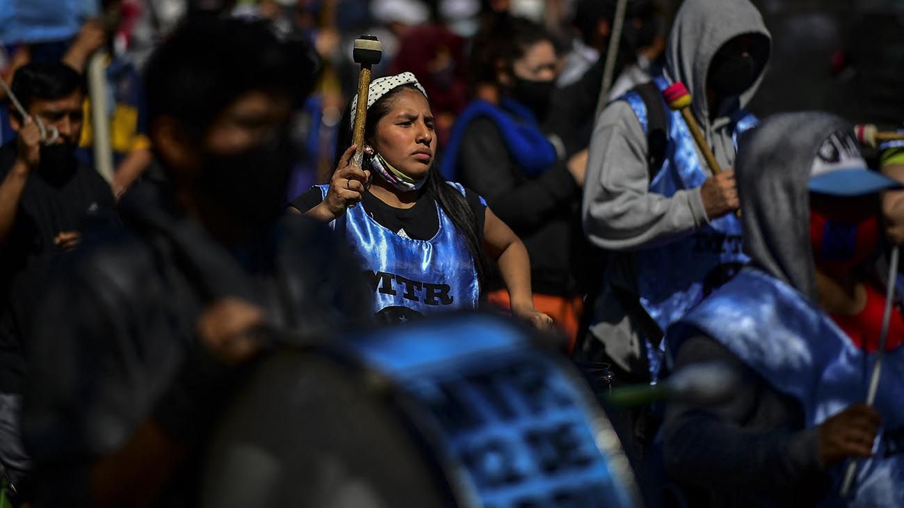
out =
<svg viewBox="0 0 904 508"><path fill-rule="evenodd" d="M777 391L800 402L807 427L866 399L876 354L854 345L796 289L744 268L669 329L669 348L711 336ZM858 469L851 506L904 506L904 346L885 354L875 408L884 428ZM837 497L843 467L833 471ZM829 500L829 505L838 503Z"/></svg>

